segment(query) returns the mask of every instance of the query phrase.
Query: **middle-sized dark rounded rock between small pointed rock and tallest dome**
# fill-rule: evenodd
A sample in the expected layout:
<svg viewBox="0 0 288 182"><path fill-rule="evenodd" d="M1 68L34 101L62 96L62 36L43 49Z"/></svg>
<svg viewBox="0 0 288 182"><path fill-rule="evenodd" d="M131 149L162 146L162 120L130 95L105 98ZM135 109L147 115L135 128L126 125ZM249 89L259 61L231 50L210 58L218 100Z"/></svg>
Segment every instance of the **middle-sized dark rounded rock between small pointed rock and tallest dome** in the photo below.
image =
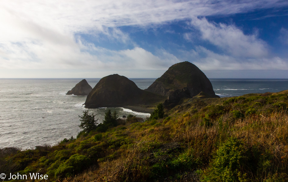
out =
<svg viewBox="0 0 288 182"><path fill-rule="evenodd" d="M165 100L159 94L139 89L136 84L118 74L99 80L86 98L86 108L139 106Z"/></svg>

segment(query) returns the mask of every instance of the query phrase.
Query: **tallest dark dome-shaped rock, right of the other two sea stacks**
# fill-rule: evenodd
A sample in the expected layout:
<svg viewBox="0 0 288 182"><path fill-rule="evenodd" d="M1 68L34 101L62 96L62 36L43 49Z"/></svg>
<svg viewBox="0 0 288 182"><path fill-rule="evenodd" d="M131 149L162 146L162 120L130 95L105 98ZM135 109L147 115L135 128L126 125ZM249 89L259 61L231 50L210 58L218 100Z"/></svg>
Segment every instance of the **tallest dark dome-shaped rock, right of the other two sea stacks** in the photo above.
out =
<svg viewBox="0 0 288 182"><path fill-rule="evenodd" d="M188 61L172 65L146 90L169 96L175 90L185 87L188 88L191 97L203 92L210 98L219 98L219 96L215 95L212 84L206 75L197 66Z"/></svg>

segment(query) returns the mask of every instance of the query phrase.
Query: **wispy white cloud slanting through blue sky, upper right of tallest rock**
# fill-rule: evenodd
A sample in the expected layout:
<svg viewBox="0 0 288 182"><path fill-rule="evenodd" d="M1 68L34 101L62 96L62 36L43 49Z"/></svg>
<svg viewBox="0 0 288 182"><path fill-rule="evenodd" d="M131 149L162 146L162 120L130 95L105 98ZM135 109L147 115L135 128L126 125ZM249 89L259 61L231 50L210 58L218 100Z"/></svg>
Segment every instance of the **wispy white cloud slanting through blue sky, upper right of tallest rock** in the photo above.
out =
<svg viewBox="0 0 288 182"><path fill-rule="evenodd" d="M257 33L245 35L235 25L216 24L208 22L205 18L194 18L191 24L200 30L202 39L232 56L264 58L269 54L268 45L257 37Z"/></svg>

